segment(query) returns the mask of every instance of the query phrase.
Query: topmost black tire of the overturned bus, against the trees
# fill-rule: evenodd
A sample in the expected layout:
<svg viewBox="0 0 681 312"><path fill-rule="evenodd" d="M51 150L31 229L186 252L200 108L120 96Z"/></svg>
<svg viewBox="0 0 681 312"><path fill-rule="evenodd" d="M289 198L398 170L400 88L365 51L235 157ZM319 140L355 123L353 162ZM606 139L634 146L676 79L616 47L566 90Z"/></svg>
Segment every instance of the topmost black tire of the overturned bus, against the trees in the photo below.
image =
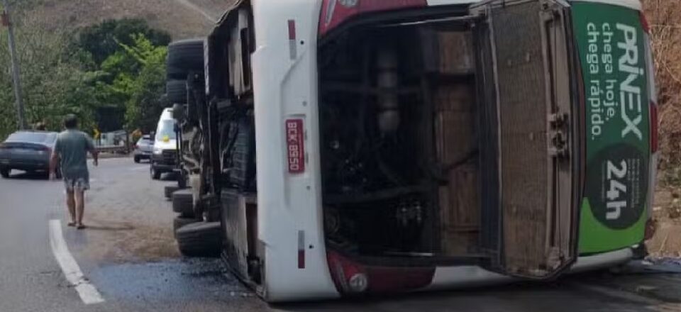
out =
<svg viewBox="0 0 681 312"><path fill-rule="evenodd" d="M189 72L204 72L204 39L170 43L166 65L168 79L185 79Z"/></svg>

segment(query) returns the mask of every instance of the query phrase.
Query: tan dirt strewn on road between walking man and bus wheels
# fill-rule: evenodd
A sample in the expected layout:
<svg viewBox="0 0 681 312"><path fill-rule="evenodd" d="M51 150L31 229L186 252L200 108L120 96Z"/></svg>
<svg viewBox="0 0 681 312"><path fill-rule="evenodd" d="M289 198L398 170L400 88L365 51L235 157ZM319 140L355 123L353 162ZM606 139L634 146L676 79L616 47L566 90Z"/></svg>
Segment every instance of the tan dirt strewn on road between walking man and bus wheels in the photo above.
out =
<svg viewBox="0 0 681 312"><path fill-rule="evenodd" d="M163 196L172 177L149 177L149 165L130 158L102 160L91 168L86 230L65 230L79 257L95 263L154 262L179 257L172 220L175 213Z"/></svg>

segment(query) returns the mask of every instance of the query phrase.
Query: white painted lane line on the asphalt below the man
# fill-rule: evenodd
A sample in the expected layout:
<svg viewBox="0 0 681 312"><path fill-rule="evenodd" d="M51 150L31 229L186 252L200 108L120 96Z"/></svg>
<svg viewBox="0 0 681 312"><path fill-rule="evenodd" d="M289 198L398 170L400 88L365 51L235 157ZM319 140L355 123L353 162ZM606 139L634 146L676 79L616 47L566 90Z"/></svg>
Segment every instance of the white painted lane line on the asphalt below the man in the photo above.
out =
<svg viewBox="0 0 681 312"><path fill-rule="evenodd" d="M59 266L62 267L66 280L75 286L83 303L94 304L104 302L99 291L85 278L78 263L71 255L71 252L69 252L69 247L66 245L66 240L64 240L62 235L62 223L59 220L50 220L50 245L52 246L52 253L55 255L57 262L59 262Z"/></svg>

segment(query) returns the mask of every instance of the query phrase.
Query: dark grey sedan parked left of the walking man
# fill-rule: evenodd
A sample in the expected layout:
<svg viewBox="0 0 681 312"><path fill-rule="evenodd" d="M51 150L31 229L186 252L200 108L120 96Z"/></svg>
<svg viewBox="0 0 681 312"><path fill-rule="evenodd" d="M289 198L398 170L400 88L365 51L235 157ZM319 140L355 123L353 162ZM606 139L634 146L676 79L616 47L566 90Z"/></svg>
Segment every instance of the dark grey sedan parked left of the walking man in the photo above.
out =
<svg viewBox="0 0 681 312"><path fill-rule="evenodd" d="M18 131L0 143L0 175L9 177L12 169L25 172L44 172L49 176L50 156L55 147L57 133L42 131ZM57 169L57 177L60 170Z"/></svg>

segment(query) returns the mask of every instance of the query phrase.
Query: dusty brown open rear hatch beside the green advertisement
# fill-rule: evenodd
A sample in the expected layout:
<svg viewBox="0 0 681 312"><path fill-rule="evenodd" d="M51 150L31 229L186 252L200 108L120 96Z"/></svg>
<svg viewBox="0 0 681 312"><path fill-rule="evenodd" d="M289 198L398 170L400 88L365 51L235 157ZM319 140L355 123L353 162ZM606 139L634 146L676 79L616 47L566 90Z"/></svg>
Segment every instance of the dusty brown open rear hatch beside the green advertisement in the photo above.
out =
<svg viewBox="0 0 681 312"><path fill-rule="evenodd" d="M487 1L471 13L488 268L555 277L577 257L580 100L569 4Z"/></svg>

